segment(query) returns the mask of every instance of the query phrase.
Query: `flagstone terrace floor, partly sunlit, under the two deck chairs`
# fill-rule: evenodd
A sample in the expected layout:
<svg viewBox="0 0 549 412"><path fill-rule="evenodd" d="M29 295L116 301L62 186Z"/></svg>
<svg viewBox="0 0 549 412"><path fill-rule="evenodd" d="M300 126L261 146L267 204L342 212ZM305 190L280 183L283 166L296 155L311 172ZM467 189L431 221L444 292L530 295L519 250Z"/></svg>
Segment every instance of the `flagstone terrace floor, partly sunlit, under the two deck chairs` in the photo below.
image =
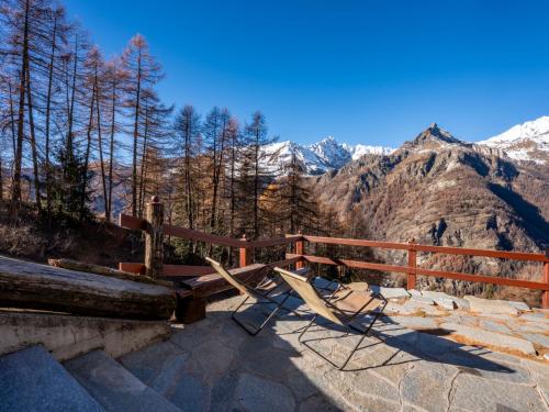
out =
<svg viewBox="0 0 549 412"><path fill-rule="evenodd" d="M445 310L442 301L434 305L399 297L399 290L384 292L395 296L389 310L399 314L376 324L349 371L299 344L311 316L300 301L291 302L300 315L283 313L253 337L231 320L242 297L211 303L205 320L120 361L193 411L549 411L548 363L539 353L526 354L528 345L520 344L530 341L518 337L531 333L547 339L546 313L475 315L466 308ZM255 321L261 311L249 305L242 319ZM518 347L497 347L512 335ZM466 344L486 338L490 348ZM339 360L358 336L326 324L307 339Z"/></svg>

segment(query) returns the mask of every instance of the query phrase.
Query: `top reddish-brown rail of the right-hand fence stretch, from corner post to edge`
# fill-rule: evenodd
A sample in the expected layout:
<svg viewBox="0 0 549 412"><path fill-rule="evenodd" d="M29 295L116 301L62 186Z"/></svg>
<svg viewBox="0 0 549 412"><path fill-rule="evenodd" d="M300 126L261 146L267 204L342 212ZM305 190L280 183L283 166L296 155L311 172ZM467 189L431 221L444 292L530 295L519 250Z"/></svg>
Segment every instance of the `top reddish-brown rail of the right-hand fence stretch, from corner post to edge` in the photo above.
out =
<svg viewBox="0 0 549 412"><path fill-rule="evenodd" d="M466 247L448 247L448 246L428 246L428 245L418 245L410 243L363 241L363 240L345 238L345 237L323 237L323 236L303 235L303 238L310 243L324 243L332 245L379 247L384 249L396 249L396 250L432 252L432 253L440 253L448 255L482 256L482 257L493 257L498 259L513 259L513 260L549 261L549 257L546 257L544 254L538 254L538 253L472 249Z"/></svg>

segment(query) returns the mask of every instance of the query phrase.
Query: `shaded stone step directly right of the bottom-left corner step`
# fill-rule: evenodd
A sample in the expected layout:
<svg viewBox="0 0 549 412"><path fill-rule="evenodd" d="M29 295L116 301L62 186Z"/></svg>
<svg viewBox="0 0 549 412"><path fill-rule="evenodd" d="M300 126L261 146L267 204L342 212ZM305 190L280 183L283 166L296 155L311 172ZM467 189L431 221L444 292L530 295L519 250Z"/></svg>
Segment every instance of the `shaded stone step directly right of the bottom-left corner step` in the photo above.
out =
<svg viewBox="0 0 549 412"><path fill-rule="evenodd" d="M180 411L102 350L70 359L65 368L105 411Z"/></svg>

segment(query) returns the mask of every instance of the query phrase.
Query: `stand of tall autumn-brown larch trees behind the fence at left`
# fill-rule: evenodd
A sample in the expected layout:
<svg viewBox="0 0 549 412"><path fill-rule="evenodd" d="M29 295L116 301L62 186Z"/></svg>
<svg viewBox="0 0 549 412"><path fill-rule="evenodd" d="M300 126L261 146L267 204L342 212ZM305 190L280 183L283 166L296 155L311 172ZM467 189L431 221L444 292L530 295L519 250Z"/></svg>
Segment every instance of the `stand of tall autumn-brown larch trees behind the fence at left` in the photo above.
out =
<svg viewBox="0 0 549 412"><path fill-rule="evenodd" d="M121 208L139 216L159 194L170 222L212 233L320 225L296 162L269 185L261 147L274 138L261 112L239 121L227 108L201 115L163 102L164 73L142 35L105 59L55 0L4 0L0 14L0 202L11 224L30 204L45 222L111 221Z"/></svg>

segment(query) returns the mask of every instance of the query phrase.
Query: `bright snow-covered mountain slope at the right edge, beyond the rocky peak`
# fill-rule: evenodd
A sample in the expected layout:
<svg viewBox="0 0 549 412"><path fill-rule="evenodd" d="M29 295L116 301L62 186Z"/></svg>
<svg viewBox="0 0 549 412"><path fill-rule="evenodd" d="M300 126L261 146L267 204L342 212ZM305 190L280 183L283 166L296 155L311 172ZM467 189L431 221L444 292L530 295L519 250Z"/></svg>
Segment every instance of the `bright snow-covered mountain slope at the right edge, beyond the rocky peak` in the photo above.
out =
<svg viewBox="0 0 549 412"><path fill-rule="evenodd" d="M477 144L501 149L516 160L549 164L549 116L517 124L497 136Z"/></svg>

